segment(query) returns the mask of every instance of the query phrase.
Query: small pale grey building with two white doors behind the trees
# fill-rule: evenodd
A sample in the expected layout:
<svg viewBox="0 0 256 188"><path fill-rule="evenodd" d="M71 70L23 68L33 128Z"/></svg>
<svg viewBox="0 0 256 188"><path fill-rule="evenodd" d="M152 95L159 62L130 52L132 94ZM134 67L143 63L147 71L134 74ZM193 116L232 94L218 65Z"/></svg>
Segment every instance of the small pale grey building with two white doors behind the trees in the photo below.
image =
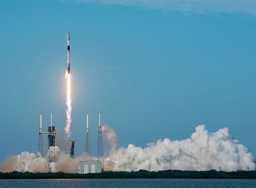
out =
<svg viewBox="0 0 256 188"><path fill-rule="evenodd" d="M78 167L79 174L100 173L101 161L80 161Z"/></svg>

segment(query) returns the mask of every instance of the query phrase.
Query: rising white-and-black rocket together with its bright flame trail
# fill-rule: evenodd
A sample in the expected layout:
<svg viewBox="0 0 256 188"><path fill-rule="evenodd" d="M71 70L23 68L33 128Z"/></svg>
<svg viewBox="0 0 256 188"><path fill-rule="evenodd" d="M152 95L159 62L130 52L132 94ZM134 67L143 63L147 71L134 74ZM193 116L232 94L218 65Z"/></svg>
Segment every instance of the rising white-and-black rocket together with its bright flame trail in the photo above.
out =
<svg viewBox="0 0 256 188"><path fill-rule="evenodd" d="M71 81L70 81L70 61L69 61L69 50L70 50L70 34L67 33L67 70L65 74L65 78L67 79L67 90L66 90L66 126L64 128L65 133L68 134L68 138L70 137L70 124L72 122L71 112Z"/></svg>

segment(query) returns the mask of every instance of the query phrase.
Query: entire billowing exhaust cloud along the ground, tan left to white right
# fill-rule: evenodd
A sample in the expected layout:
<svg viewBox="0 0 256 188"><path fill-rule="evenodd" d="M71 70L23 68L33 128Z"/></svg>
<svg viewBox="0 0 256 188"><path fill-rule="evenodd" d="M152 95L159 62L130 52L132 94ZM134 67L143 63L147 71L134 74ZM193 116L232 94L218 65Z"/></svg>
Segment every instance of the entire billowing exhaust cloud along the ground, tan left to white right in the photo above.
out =
<svg viewBox="0 0 256 188"><path fill-rule="evenodd" d="M166 138L156 143L149 143L146 148L129 144L120 147L113 128L104 125L103 146L105 150L105 170L131 171L150 169L153 171L177 170L210 170L222 167L223 171L255 170L255 157L236 140L229 128L208 132L204 125L196 127L191 138L174 140ZM94 156L83 153L70 159L69 154L61 153L55 146L56 161L50 163L53 172L77 172L79 161L97 160ZM31 172L47 172L48 156L27 151L17 156L10 156L0 164L0 171L24 172L30 164Z"/></svg>

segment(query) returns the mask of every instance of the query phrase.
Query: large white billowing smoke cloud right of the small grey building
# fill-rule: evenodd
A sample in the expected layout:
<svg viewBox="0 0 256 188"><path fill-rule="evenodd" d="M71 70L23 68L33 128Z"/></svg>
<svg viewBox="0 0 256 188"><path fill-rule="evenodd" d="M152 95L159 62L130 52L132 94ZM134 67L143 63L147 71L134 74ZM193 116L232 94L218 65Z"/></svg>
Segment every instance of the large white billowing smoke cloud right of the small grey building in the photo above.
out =
<svg viewBox="0 0 256 188"><path fill-rule="evenodd" d="M209 133L204 125L197 126L196 132L186 140L171 141L166 138L149 143L146 148L129 144L128 148L111 150L104 162L105 170L113 171L147 170L149 164L153 171L204 171L219 169L219 166L223 171L236 171L255 170L256 167L255 157L233 137L228 128Z"/></svg>

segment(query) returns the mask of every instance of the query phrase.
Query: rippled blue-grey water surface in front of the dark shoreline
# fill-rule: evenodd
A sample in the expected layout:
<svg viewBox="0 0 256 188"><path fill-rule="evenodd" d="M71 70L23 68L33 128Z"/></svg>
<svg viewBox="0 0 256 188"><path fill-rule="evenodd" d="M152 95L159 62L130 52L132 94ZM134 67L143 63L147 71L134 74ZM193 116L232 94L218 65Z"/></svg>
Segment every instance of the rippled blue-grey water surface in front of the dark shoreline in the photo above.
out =
<svg viewBox="0 0 256 188"><path fill-rule="evenodd" d="M256 187L256 179L0 179L0 187Z"/></svg>

